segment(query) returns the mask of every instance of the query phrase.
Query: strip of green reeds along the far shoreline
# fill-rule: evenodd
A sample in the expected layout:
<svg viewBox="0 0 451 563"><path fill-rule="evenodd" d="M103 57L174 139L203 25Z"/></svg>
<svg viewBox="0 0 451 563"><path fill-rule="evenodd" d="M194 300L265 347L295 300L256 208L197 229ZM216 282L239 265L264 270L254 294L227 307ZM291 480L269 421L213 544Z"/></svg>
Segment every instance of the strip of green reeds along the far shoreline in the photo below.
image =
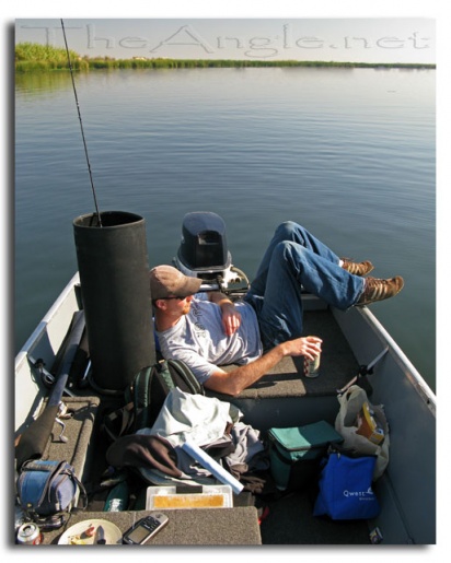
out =
<svg viewBox="0 0 451 563"><path fill-rule="evenodd" d="M81 57L69 50L73 70L96 69L199 69L199 68L253 68L253 67L327 67L347 69L435 69L436 64L404 62L337 62L311 60L234 60L234 59L167 59L132 57ZM15 46L16 72L46 72L69 70L66 49L37 43L19 43Z"/></svg>

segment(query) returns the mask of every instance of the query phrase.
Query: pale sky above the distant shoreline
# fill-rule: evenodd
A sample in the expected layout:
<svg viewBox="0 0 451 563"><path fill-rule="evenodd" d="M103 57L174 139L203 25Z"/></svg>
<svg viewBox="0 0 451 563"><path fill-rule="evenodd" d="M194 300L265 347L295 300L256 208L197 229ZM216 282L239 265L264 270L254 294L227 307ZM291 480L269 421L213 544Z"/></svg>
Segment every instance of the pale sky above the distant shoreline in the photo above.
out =
<svg viewBox="0 0 451 563"><path fill-rule="evenodd" d="M63 19L69 48L116 59L436 62L431 17ZM18 19L15 43L63 47L59 19Z"/></svg>

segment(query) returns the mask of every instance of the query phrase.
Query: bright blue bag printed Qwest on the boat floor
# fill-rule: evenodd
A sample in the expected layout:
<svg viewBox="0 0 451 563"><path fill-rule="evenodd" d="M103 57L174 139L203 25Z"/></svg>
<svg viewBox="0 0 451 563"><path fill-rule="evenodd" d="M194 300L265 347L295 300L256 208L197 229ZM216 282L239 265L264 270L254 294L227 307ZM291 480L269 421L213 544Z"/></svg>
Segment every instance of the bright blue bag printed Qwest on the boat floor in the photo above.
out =
<svg viewBox="0 0 451 563"><path fill-rule="evenodd" d="M333 520L378 516L380 505L371 488L375 460L375 456L349 457L331 453L321 471L313 515L326 515Z"/></svg>

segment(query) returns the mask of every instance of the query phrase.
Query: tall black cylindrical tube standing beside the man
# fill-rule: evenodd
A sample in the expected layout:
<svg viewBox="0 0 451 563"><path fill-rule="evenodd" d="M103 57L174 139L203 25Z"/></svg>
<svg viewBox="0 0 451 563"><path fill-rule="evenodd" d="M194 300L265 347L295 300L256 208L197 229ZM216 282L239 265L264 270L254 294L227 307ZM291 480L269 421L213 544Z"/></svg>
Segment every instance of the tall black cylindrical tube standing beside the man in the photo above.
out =
<svg viewBox="0 0 451 563"><path fill-rule="evenodd" d="M92 379L124 390L155 362L146 222L105 211L73 221Z"/></svg>

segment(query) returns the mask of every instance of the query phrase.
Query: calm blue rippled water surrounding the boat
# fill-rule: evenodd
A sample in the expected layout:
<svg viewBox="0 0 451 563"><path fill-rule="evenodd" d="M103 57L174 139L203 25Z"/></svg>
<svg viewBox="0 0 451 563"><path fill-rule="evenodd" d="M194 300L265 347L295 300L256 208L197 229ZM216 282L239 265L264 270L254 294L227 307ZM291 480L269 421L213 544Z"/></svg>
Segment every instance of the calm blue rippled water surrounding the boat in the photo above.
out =
<svg viewBox="0 0 451 563"><path fill-rule="evenodd" d="M205 69L76 77L101 211L147 221L167 262L189 211L219 213L250 278L274 228L402 274L371 306L436 387L435 71ZM68 74L19 77L15 349L77 270L72 221L94 211ZM371 360L371 359L369 359Z"/></svg>

